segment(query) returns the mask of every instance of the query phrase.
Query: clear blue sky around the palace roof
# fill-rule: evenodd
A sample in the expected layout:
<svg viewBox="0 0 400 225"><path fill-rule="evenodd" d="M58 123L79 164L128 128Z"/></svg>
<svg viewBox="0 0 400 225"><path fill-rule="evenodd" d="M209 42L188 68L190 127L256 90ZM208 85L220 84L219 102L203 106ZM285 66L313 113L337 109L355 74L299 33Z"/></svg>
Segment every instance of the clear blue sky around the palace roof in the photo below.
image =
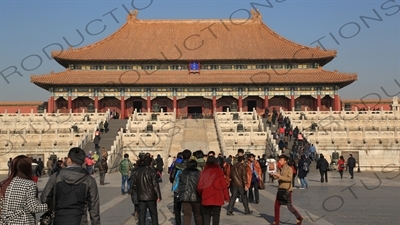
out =
<svg viewBox="0 0 400 225"><path fill-rule="evenodd" d="M269 2L271 7L257 6L267 26L307 46L315 47L316 43L312 43L325 36L321 43L327 49L337 50L338 54L324 68L358 74L358 81L340 90L342 99L391 98L382 88L388 95L400 92L400 0ZM0 101L48 100L49 93L30 83L30 76L64 68L48 59L42 49L54 43L68 48L63 37L71 44L79 43L77 29L84 36L79 46L107 37L126 21L123 5L128 9L145 8L139 10L139 19L220 19L247 18L244 9L250 10L250 3L268 5L266 0L0 0L0 72L5 70L3 74L8 75L15 66L23 75L7 77L9 83L0 76ZM362 16L376 19L380 16L381 21L364 19L364 23ZM104 25L106 29L90 36L85 27L95 19L102 21L93 23L93 32L100 31ZM51 50L59 48L56 45L46 48L47 53Z"/></svg>

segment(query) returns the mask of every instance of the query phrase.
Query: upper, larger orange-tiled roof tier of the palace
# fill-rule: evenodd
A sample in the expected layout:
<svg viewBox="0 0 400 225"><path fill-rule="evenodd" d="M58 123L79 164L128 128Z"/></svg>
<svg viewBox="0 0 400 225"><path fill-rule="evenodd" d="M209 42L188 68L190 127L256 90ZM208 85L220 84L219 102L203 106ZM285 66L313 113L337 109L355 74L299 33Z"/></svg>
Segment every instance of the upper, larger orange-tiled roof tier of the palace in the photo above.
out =
<svg viewBox="0 0 400 225"><path fill-rule="evenodd" d="M278 35L252 10L248 19L139 20L137 13L107 38L77 49L54 51L61 65L149 60L312 60L324 65L336 51L296 44Z"/></svg>

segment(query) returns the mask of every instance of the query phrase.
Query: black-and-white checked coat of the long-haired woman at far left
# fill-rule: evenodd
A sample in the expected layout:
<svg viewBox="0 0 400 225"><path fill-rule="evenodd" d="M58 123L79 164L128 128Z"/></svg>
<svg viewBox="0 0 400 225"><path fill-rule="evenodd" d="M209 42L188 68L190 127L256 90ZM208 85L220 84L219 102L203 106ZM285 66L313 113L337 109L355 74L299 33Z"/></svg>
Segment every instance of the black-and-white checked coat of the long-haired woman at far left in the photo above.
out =
<svg viewBox="0 0 400 225"><path fill-rule="evenodd" d="M37 199L37 187L32 180L14 177L7 187L0 214L0 224L36 225L35 213L47 211L47 204Z"/></svg>

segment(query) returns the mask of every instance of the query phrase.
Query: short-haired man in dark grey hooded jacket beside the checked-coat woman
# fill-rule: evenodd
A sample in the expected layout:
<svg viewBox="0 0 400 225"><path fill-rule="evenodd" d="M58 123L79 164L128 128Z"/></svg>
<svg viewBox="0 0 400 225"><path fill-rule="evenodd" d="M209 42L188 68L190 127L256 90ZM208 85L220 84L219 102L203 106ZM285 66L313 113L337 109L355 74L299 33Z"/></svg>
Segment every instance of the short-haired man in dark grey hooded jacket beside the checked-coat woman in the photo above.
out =
<svg viewBox="0 0 400 225"><path fill-rule="evenodd" d="M53 174L43 189L40 201L53 204L56 198L54 224L88 224L89 212L92 225L100 225L100 202L96 180L82 167L85 151L74 147L68 152L67 168ZM56 194L53 196L53 188Z"/></svg>

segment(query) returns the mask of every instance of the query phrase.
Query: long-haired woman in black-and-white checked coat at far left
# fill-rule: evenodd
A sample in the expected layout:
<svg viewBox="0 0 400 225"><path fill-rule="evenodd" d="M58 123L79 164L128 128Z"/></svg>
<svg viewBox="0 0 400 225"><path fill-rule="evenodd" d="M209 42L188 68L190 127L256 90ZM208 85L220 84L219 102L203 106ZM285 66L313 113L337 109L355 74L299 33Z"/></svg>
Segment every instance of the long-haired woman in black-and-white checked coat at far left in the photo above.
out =
<svg viewBox="0 0 400 225"><path fill-rule="evenodd" d="M0 182L0 224L36 225L35 213L47 211L38 201L38 189L32 180L32 161L19 155L11 161L7 179Z"/></svg>

